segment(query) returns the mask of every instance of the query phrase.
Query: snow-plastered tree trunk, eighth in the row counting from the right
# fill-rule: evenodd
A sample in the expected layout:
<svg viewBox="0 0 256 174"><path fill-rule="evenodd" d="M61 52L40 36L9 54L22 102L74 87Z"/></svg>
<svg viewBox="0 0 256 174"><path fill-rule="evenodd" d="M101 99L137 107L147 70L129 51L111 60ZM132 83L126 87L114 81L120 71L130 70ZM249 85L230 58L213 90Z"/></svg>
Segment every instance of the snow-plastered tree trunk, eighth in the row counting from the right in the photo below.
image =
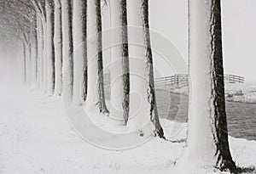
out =
<svg viewBox="0 0 256 174"><path fill-rule="evenodd" d="M54 44L54 2L53 0L45 1L46 24L47 24L47 67L48 67L48 84L47 93L53 95L55 92L55 44Z"/></svg>

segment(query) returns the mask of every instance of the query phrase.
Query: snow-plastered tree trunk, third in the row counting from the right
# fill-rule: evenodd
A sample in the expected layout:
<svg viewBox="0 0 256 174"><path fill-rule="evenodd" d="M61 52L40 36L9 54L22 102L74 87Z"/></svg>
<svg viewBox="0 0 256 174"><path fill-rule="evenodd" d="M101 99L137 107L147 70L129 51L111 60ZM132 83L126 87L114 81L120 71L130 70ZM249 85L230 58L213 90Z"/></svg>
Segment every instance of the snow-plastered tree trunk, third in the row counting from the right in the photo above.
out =
<svg viewBox="0 0 256 174"><path fill-rule="evenodd" d="M111 10L111 111L126 125L130 110L130 74L126 0L110 1Z"/></svg>

